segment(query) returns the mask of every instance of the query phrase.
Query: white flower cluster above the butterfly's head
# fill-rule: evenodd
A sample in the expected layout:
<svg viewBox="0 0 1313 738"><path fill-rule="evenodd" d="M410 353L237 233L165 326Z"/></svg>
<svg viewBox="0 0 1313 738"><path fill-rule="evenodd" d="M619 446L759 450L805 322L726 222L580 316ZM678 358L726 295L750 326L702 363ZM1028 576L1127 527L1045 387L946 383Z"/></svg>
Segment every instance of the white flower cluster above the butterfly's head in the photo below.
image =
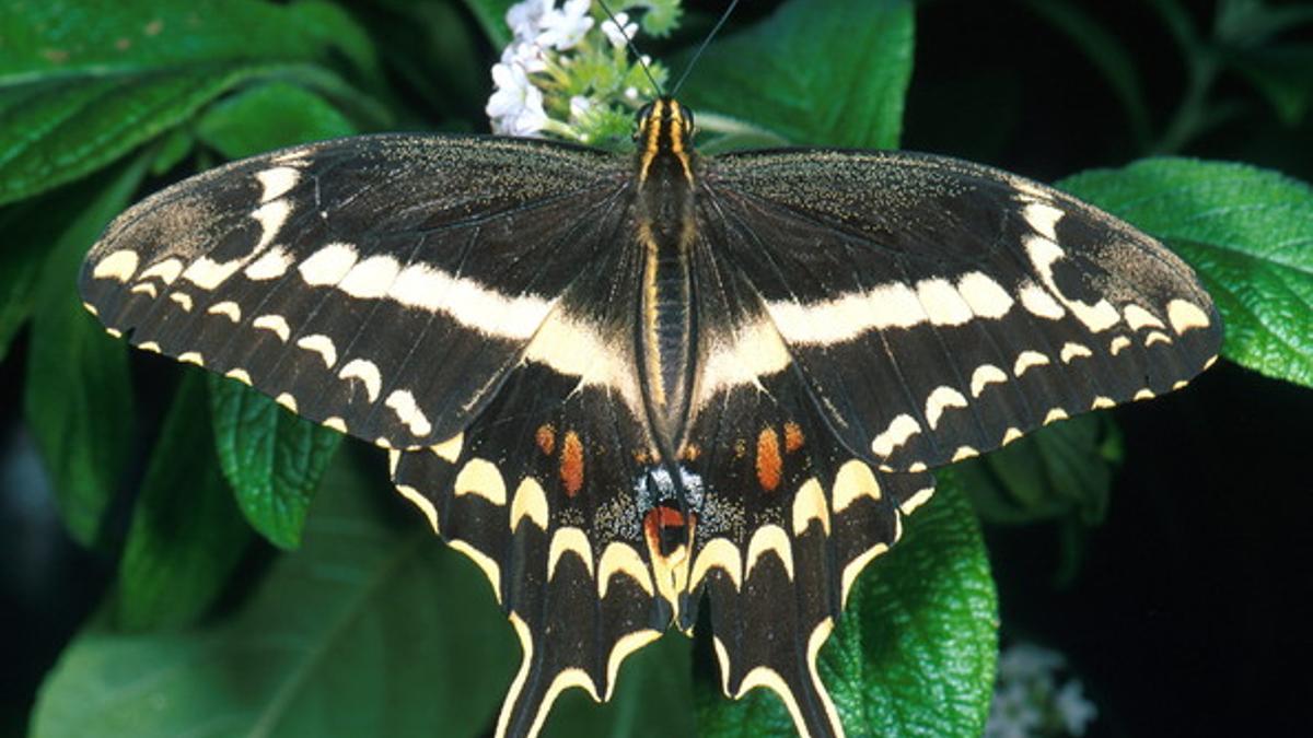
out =
<svg viewBox="0 0 1313 738"><path fill-rule="evenodd" d="M584 143L625 137L633 110L655 95L629 43L639 29L663 35L679 20L679 0L622 0L614 20L591 0L524 0L506 22L513 38L492 66L496 89L486 112L492 131L555 135ZM641 18L630 20L639 9ZM643 58L653 76L666 71Z"/></svg>

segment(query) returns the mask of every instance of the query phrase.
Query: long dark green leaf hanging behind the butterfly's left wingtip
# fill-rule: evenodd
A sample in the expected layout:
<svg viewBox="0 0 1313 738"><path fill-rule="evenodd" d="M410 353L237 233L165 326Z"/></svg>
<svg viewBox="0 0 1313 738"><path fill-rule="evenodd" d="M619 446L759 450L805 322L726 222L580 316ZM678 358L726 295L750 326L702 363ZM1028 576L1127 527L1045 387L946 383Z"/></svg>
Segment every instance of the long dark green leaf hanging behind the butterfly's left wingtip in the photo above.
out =
<svg viewBox="0 0 1313 738"><path fill-rule="evenodd" d="M68 201L85 202L80 213L42 213L70 219L50 244L34 288L24 416L50 471L64 525L87 546L97 540L127 461L133 398L126 347L87 314L75 285L83 256L131 201L147 164L138 158L87 183L96 194Z"/></svg>

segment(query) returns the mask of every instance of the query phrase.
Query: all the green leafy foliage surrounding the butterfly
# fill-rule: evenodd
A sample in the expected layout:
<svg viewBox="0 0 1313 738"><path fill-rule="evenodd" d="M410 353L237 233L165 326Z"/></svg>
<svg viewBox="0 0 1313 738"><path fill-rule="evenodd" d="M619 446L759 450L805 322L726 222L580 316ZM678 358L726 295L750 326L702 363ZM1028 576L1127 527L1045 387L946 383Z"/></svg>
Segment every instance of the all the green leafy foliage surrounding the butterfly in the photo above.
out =
<svg viewBox="0 0 1313 738"><path fill-rule="evenodd" d="M1179 105L1159 119L1123 33L1075 3L1018 4L1074 39L1103 76L1125 118L1127 156L1188 152L1246 116L1308 121L1313 46L1287 41L1313 21L1306 9L1221 0L1201 30L1175 0L1154 0L1186 70ZM68 534L117 561L104 605L41 689L34 735L487 730L513 667L508 629L477 570L418 520L398 519L399 503L381 502L377 460L339 453L331 431L194 370L148 387L177 386L161 427L138 419L134 373L181 370L130 358L72 285L100 228L134 197L214 163L370 130L484 130L492 46L511 38L507 5L131 0L108 13L56 0L0 9L0 225L9 234L0 361L26 361L24 418ZM662 13L645 21L649 33L675 30L654 54L672 70L700 41L672 26L701 33L713 20L681 17L664 0L625 7ZM915 85L915 28L910 0L786 0L731 21L681 97L717 134L708 151L893 147ZM1228 80L1249 85L1267 113L1221 100ZM1224 313L1226 360L1313 386L1306 184L1162 156L1060 186L1162 238L1199 271ZM150 449L134 448L138 420L158 429L146 433ZM1134 449L1120 448L1104 414L943 475L822 651L850 734L982 729L998 604L966 500L986 521L1060 520L1074 532L1067 540L1079 538L1102 520L1123 453ZM116 519L116 507L130 512ZM252 529L289 552L252 545ZM272 562L261 567L261 557ZM786 730L773 697L729 703L714 679L695 679L708 668L700 658L667 637L626 663L612 704L569 695L548 730Z"/></svg>

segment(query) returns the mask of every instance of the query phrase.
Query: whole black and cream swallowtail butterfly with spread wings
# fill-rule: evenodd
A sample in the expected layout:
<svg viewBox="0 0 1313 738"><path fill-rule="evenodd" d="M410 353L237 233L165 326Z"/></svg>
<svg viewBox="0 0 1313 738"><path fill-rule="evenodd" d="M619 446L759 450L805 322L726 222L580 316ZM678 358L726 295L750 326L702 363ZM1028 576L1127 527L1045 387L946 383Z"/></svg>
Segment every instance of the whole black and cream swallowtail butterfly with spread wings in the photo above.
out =
<svg viewBox="0 0 1313 738"><path fill-rule="evenodd" d="M255 156L116 219L81 294L114 335L389 449L487 574L524 661L499 735L704 595L723 689L842 735L815 659L930 469L1182 386L1221 326L1157 240L906 152L697 156L373 135Z"/></svg>

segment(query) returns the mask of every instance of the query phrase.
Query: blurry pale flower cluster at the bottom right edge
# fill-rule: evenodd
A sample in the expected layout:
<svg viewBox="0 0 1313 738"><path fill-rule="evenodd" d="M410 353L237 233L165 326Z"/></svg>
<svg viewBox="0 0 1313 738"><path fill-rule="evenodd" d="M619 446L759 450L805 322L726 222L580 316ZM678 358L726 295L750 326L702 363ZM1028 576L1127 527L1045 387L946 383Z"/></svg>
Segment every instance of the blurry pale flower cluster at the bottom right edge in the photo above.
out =
<svg viewBox="0 0 1313 738"><path fill-rule="evenodd" d="M1016 643L998 658L998 684L985 738L1085 735L1099 710L1085 699L1079 679L1060 685L1062 654Z"/></svg>

